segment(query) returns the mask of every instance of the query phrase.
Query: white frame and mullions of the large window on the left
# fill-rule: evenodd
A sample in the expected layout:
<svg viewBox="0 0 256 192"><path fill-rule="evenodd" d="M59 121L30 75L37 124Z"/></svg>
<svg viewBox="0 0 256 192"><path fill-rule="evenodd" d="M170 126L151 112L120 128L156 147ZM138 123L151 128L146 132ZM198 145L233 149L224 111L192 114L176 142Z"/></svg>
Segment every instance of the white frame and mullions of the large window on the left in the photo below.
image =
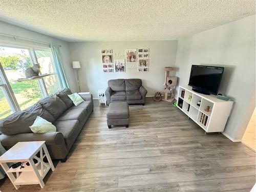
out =
<svg viewBox="0 0 256 192"><path fill-rule="evenodd" d="M47 50L47 51L51 52L51 49L49 47L40 47L40 46L33 46L32 47L32 46L10 45L10 44L0 43L0 47L17 48L17 49L26 49L26 50L28 50L32 65L35 65L35 64L38 63L35 50L39 50L39 51L44 51L44 50L46 51ZM52 55L51 55L51 61L54 64L54 60L53 60ZM59 76L58 76L57 72L51 73L50 75L57 75L58 80L59 80ZM0 65L0 79L2 81L2 82L0 81L0 89L2 89L2 91L3 91L3 94L4 94L8 104L10 106L11 112L14 113L14 112L20 111L20 106L19 106L19 104L16 100L16 97L13 93L13 90L10 86L10 82L9 82L9 80L8 80L6 74L5 74L5 71L4 71L4 68L3 68L2 65ZM38 84L39 84L39 88L40 88L40 91L41 91L42 98L47 97L49 95L49 93L47 91L45 79L40 78L40 79L37 79L37 80L38 80ZM59 87L60 87L60 84L59 84Z"/></svg>

